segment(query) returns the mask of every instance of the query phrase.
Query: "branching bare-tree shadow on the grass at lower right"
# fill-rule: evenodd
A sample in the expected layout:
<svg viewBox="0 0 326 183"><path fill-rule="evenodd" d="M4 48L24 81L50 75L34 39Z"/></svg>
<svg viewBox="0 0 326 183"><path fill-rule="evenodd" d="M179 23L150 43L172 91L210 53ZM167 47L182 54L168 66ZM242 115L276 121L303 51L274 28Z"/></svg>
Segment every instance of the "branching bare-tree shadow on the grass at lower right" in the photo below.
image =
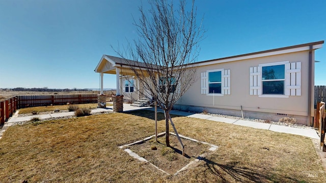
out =
<svg viewBox="0 0 326 183"><path fill-rule="evenodd" d="M276 175L273 174L266 174L259 171L258 167L240 167L238 166L238 161L227 164L219 164L203 157L198 157L198 159L204 161L204 166L207 167L206 170L209 170L214 175L220 177L222 182L230 182L234 180L239 182L300 182L299 180L291 177L282 177L282 175L276 177Z"/></svg>

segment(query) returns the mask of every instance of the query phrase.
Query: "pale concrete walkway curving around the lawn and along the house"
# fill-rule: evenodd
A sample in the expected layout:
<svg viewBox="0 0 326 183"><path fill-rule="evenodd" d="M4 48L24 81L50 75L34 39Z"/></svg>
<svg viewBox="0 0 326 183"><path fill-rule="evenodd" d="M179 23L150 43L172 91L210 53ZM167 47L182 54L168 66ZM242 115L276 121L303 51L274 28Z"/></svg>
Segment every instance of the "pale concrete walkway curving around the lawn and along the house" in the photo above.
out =
<svg viewBox="0 0 326 183"><path fill-rule="evenodd" d="M91 113L93 114L93 113L107 112L107 111L112 112L113 111L112 107L113 106L108 106L105 109L102 109L102 108L93 109L91 111ZM154 111L153 107L134 107L134 106L130 106L130 104L123 104L123 111L142 110L142 109ZM163 112L163 110L158 109L158 112ZM256 128L256 129L264 129L264 130L270 130L270 131L274 131L274 132L288 133L288 134L294 134L294 135L301 135L301 136L305 136L305 137L309 137L309 138L319 139L317 132L313 129L293 128L293 127L286 127L286 126L280 126L280 125L258 123L258 122L242 120L242 119L232 119L232 118L226 118L226 117L218 117L218 116L197 114L197 113L184 112L184 111L175 111L175 110L172 110L170 112L170 114L193 117L193 118L200 118L200 119L207 119L207 120L218 121L218 122L223 122L223 123L228 123L228 124L233 124L233 125L251 127L251 128ZM16 114L16 115L13 115L13 117L9 118L9 120L5 123L5 126L0 131L0 138L2 136L3 131L6 129L6 127L12 126L15 123L20 122L20 121L29 121L33 117L39 117L40 119L49 119L52 117L63 117L63 116L72 116L72 115L74 115L74 112L58 112L58 113L24 116L24 117L16 117L17 116L17 114Z"/></svg>

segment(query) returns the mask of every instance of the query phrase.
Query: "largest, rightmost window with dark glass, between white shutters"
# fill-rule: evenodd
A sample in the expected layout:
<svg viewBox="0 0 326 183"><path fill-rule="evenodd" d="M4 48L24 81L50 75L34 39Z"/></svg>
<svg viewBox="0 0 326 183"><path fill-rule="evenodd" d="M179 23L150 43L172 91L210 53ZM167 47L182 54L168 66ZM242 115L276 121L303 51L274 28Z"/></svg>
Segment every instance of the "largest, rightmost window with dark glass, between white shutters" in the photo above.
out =
<svg viewBox="0 0 326 183"><path fill-rule="evenodd" d="M285 65L262 67L262 94L284 95Z"/></svg>

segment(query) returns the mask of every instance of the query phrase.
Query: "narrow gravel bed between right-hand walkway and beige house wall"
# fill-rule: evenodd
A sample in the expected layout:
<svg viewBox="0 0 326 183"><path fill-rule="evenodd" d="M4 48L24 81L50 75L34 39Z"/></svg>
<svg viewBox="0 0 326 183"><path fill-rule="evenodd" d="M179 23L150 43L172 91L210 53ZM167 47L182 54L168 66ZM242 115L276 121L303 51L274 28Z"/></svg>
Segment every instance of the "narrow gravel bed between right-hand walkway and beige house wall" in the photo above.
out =
<svg viewBox="0 0 326 183"><path fill-rule="evenodd" d="M294 128L301 128L301 129L313 129L313 127L308 127L305 125L300 125L300 124L292 124L292 123L283 123L280 121L270 121L270 120L264 120L264 119L256 119L256 118L249 118L249 117L238 117L238 116L230 116L230 115L224 115L224 114L212 114L212 113L204 113L201 112L200 114L206 114L206 115L211 115L211 116L218 116L218 117L227 117L231 119L241 119L241 120L248 120L248 121L255 121L259 123L267 123L267 124L273 124L273 125L281 125L281 126L286 126L286 127L294 127Z"/></svg>

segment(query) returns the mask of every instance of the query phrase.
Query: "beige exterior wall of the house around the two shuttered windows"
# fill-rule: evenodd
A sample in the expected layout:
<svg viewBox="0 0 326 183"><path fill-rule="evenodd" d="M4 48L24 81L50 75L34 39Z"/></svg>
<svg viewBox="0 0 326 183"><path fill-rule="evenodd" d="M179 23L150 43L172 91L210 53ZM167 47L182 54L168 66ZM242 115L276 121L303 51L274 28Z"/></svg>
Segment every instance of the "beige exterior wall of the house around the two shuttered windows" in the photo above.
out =
<svg viewBox="0 0 326 183"><path fill-rule="evenodd" d="M314 55L314 52L312 55ZM314 60L314 56L312 59ZM301 96L269 98L250 95L250 67L284 61L288 61L289 63L301 62ZM245 117L256 116L262 119L278 120L286 114L285 116L296 117L297 123L307 125L308 84L311 84L312 88L314 85L314 83L308 83L308 61L309 51L300 51L200 66L197 69L199 78L201 73L207 70L230 70L230 95L212 96L201 94L202 81L199 79L177 101L174 108L183 110L195 109L199 111L206 109L208 111L218 111L222 114L241 116L242 106ZM312 68L312 71L314 71L314 68ZM314 76L314 72L312 76ZM310 105L312 105L313 115L313 104Z"/></svg>

